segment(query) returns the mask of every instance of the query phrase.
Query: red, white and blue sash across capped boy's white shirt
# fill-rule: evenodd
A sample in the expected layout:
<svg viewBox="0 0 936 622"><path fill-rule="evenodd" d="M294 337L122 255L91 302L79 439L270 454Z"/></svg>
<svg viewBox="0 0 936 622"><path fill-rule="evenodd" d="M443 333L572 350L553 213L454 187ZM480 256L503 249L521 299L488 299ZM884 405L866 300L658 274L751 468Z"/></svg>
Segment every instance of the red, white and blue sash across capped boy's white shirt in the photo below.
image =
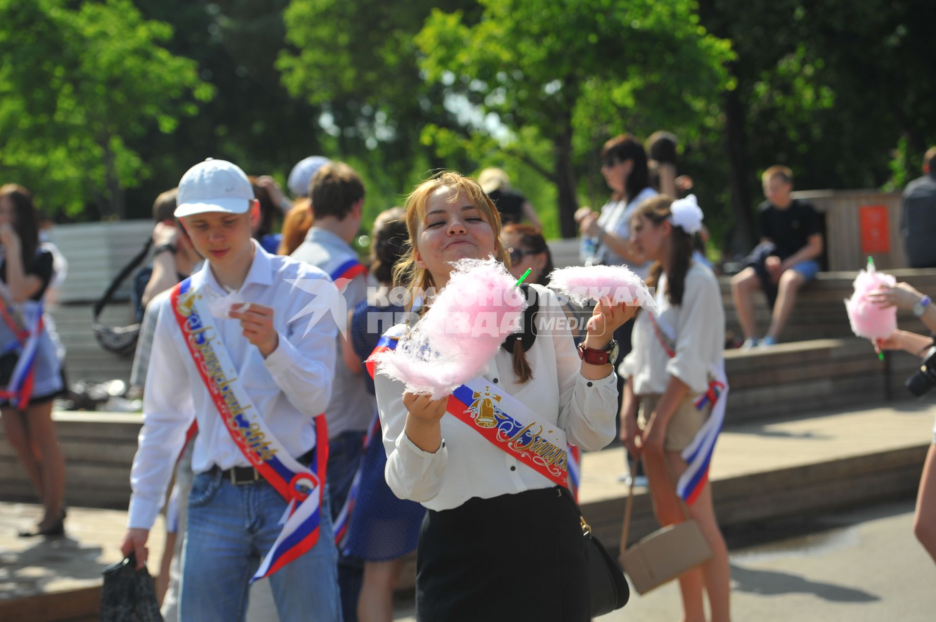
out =
<svg viewBox="0 0 936 622"><path fill-rule="evenodd" d="M315 450L309 469L289 455L271 433L262 413L257 412L212 325L206 301L191 290L190 278L173 288L170 302L198 376L231 439L263 479L289 502L283 530L251 579L253 583L280 570L318 541L329 447L325 417L315 417Z"/></svg>

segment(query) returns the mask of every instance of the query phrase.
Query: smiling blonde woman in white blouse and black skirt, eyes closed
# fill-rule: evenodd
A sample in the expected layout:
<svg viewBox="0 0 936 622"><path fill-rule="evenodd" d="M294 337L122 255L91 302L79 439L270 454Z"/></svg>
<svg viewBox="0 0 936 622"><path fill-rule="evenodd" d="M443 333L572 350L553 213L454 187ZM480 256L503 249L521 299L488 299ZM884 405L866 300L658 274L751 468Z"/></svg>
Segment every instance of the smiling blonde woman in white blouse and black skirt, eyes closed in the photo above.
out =
<svg viewBox="0 0 936 622"><path fill-rule="evenodd" d="M412 246L395 282L411 291L446 296L460 260L492 280L483 260L509 265L497 210L475 180L443 172L419 184L405 208ZM526 296L539 312L563 313L541 285ZM465 303L469 315L473 306ZM578 509L563 492L565 442L596 451L613 439L611 334L634 312L598 304L580 358L567 325L527 326L527 311L522 338L509 335L478 376L447 396L407 392L378 370L388 485L429 510L417 549L417 620L590 619ZM414 330L395 328L401 341ZM529 423L516 427L521 421Z"/></svg>

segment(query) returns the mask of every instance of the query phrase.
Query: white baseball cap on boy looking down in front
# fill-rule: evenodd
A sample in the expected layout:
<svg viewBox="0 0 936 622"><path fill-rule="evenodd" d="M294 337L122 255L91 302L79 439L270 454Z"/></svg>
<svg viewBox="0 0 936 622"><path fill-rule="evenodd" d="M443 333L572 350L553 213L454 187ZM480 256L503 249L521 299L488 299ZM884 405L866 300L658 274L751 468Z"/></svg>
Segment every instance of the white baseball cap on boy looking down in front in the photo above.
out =
<svg viewBox="0 0 936 622"><path fill-rule="evenodd" d="M227 160L207 158L192 166L179 181L175 217L205 211L242 214L250 209L254 188L240 166Z"/></svg>

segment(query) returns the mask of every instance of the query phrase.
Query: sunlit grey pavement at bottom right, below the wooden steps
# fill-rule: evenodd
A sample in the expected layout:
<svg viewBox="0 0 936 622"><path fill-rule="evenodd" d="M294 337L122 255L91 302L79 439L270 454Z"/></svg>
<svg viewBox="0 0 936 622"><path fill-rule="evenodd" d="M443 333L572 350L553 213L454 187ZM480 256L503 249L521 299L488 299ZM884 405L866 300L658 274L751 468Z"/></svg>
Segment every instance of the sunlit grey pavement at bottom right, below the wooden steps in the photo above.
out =
<svg viewBox="0 0 936 622"><path fill-rule="evenodd" d="M932 622L936 564L913 536L912 501L757 533L729 534L732 618L735 622ZM751 539L780 536L768 543ZM633 595L600 622L677 622L675 584ZM413 622L412 604L395 620Z"/></svg>

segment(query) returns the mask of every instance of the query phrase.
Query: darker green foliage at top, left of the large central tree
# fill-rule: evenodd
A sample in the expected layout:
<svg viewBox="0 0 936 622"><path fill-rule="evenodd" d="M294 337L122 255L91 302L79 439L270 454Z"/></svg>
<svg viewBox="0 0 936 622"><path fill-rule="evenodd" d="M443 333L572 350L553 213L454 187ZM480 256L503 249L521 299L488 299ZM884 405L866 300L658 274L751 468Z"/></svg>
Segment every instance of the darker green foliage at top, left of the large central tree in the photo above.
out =
<svg viewBox="0 0 936 622"><path fill-rule="evenodd" d="M292 0L284 14L289 47L276 66L290 94L320 107L340 157L363 167L369 195L399 203L427 169L461 168L420 142L425 123L454 124L442 88L422 79L414 36L432 7L466 0ZM370 207L370 206L369 206Z"/></svg>

